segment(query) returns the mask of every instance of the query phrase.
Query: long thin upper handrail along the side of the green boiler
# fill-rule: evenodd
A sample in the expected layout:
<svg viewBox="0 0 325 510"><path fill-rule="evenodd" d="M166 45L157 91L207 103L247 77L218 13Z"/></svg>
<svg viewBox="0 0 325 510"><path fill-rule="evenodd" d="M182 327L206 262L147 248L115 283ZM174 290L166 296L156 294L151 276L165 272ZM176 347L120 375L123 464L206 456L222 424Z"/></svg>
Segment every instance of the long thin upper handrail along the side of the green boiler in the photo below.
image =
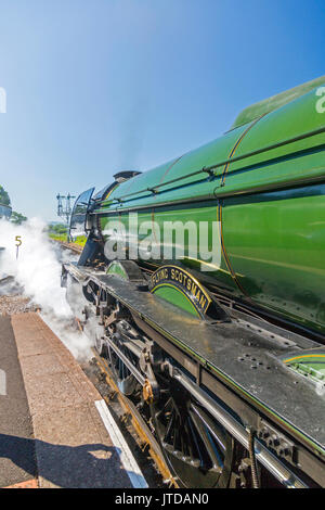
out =
<svg viewBox="0 0 325 510"><path fill-rule="evenodd" d="M288 145L289 143L295 143L297 141L304 140L306 138L314 137L316 135L321 135L322 132L325 132L325 126L323 126L318 129L314 129L312 131L303 132L302 135L299 135L297 137L288 138L287 140L283 140L283 141L277 142L277 143L273 143L271 145L265 145L261 149L257 149L256 151L250 151L246 154L242 154L240 156L230 157L230 158L224 160L220 163L216 163L216 164L210 165L210 166L204 166L199 170L192 171L191 174L186 174L185 176L177 177L176 179L171 179L169 181L161 182L160 184L153 186L152 188L144 188L143 190L134 191L133 193L127 193L125 195L121 195L121 196L113 199L113 200L117 201L119 203L122 203L123 199L129 197L129 196L134 196L134 195L138 195L140 193L144 193L145 191L151 191L152 193L156 194L156 193L158 193L158 189L164 187L164 186L173 184L174 182L179 182L180 180L183 180L183 179L188 179L190 177L194 177L194 176L196 176L198 174L202 174L202 173L209 174L209 176L216 176L213 170L216 170L220 166L225 166L225 165L229 165L231 163L236 163L236 162L245 160L247 157L256 156L258 154L262 154L263 152L272 151L273 149L277 149L277 148L281 148L281 146L284 146L284 145Z"/></svg>

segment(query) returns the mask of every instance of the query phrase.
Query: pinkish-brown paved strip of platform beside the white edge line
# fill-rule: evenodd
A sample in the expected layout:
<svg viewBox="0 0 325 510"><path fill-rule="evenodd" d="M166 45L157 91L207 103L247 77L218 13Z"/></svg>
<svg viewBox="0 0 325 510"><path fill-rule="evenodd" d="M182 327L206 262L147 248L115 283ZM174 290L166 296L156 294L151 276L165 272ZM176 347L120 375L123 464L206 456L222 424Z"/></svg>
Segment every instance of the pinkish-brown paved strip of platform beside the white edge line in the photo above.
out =
<svg viewBox="0 0 325 510"><path fill-rule="evenodd" d="M38 314L12 316L40 487L131 487L99 415L101 395Z"/></svg>

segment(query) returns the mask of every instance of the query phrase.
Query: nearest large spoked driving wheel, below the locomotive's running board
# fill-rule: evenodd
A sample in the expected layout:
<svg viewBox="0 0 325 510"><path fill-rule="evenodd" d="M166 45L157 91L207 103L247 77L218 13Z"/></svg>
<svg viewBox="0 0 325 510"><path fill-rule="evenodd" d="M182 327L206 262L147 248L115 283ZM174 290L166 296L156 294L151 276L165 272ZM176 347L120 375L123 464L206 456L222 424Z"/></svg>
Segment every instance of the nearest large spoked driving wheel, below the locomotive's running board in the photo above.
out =
<svg viewBox="0 0 325 510"><path fill-rule="evenodd" d="M158 383L165 392L151 410L171 474L180 487L226 487L232 437L176 380Z"/></svg>

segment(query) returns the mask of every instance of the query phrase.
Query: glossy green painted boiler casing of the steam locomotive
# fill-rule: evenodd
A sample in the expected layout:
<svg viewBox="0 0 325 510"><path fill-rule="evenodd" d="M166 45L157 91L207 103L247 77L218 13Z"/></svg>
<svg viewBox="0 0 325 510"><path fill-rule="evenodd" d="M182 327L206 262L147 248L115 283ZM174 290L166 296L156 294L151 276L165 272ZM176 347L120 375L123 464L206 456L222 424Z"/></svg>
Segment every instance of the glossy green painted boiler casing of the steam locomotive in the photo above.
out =
<svg viewBox="0 0 325 510"><path fill-rule="evenodd" d="M323 84L320 78L317 86ZM130 208L138 211L139 221L160 225L168 219L216 221L219 206L224 245L220 268L202 271L200 260L186 257L187 245L183 264L202 271L207 286L325 334L324 132L219 166L212 177L200 173L156 193L144 191L324 128L325 113L316 112L315 92L280 102L262 118L120 183L98 209L102 231L108 217L126 222Z"/></svg>

